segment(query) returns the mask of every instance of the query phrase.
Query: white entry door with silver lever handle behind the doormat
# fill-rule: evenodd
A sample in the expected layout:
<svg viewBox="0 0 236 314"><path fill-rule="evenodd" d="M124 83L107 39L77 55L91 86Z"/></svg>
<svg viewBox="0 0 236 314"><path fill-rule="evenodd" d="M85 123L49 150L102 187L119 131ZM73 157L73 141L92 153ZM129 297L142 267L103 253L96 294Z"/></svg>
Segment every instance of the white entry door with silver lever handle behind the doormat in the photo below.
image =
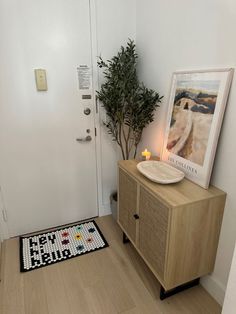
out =
<svg viewBox="0 0 236 314"><path fill-rule="evenodd" d="M93 100L82 99L92 90L79 90L76 71L91 67L89 0L0 0L0 45L10 235L97 216L95 113ZM46 70L48 91L36 90L35 68Z"/></svg>

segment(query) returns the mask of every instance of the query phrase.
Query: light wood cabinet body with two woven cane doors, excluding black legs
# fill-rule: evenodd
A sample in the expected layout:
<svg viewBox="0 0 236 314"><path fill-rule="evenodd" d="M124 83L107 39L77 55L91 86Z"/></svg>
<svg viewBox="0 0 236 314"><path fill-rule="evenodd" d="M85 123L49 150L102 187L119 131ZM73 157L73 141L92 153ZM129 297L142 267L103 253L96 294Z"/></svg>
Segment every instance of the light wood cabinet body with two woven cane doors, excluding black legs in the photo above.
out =
<svg viewBox="0 0 236 314"><path fill-rule="evenodd" d="M160 185L119 162L118 223L165 290L213 271L226 194L184 179Z"/></svg>

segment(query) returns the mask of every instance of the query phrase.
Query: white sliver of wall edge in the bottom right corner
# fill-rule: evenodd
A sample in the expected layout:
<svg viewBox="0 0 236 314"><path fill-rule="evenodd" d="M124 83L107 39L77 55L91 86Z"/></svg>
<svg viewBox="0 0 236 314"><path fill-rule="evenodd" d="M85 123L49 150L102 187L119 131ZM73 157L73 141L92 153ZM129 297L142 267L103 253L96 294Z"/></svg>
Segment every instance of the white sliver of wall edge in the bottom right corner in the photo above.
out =
<svg viewBox="0 0 236 314"><path fill-rule="evenodd" d="M232 260L232 265L229 273L229 281L227 284L222 314L235 314L236 309L235 291L236 291L236 246L234 249L234 257Z"/></svg>

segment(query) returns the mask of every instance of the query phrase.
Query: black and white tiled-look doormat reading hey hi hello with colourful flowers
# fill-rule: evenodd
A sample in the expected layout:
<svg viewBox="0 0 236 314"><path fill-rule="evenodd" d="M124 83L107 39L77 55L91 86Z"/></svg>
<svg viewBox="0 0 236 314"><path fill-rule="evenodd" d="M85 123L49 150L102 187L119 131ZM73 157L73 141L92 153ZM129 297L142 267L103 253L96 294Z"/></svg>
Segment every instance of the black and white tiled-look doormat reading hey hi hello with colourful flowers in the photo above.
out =
<svg viewBox="0 0 236 314"><path fill-rule="evenodd" d="M20 270L30 271L107 246L108 243L94 220L20 237Z"/></svg>

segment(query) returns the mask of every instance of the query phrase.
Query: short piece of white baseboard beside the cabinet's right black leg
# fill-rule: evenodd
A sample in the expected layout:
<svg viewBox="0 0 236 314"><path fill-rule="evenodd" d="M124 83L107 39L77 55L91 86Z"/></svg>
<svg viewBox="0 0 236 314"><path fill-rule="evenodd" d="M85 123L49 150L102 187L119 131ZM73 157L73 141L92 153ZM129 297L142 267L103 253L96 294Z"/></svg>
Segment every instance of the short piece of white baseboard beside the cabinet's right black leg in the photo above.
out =
<svg viewBox="0 0 236 314"><path fill-rule="evenodd" d="M226 287L212 275L201 278L201 285L220 304L223 305Z"/></svg>

